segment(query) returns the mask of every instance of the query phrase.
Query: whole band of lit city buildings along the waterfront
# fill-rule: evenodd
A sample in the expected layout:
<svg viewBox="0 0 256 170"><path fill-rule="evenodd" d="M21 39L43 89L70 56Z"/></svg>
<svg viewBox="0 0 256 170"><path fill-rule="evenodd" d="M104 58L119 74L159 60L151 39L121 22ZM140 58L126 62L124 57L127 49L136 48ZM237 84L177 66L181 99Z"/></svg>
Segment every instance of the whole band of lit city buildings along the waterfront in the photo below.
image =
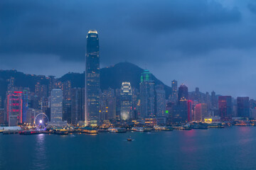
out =
<svg viewBox="0 0 256 170"><path fill-rule="evenodd" d="M16 79L10 77L6 96L0 98L3 99L0 101L3 103L0 106L1 125L25 129L28 126L94 127L97 130L116 127L132 130L157 125L172 125L175 129L187 123L190 128L208 128L207 124L221 127L218 123L255 125L255 100L247 96L220 96L215 91L204 94L199 88L188 92L188 86L178 86L176 80L171 82L171 94L166 96L166 87L156 84L147 69L140 75L139 89L127 80L119 84L119 89L101 91L100 46L96 30L87 34L85 56L84 88L49 76L47 81L36 82L31 90L16 86ZM41 115L38 120L37 115Z"/></svg>

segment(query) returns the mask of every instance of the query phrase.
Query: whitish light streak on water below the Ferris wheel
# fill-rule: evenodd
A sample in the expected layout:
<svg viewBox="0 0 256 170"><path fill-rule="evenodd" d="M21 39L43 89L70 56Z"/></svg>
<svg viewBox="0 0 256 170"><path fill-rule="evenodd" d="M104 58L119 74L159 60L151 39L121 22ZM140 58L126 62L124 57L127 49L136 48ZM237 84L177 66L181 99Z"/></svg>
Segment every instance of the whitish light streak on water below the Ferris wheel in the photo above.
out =
<svg viewBox="0 0 256 170"><path fill-rule="evenodd" d="M33 169L47 169L46 164L46 144L45 134L36 135L35 158L33 159Z"/></svg>

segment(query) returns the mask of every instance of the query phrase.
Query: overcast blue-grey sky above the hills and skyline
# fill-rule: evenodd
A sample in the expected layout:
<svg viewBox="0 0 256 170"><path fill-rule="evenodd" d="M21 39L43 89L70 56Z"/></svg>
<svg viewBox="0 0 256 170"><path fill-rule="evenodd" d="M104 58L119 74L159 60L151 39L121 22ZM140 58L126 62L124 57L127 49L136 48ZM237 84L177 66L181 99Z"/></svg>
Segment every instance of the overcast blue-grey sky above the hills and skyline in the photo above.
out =
<svg viewBox="0 0 256 170"><path fill-rule="evenodd" d="M90 29L101 67L127 61L167 85L256 98L253 0L1 0L0 69L83 72Z"/></svg>

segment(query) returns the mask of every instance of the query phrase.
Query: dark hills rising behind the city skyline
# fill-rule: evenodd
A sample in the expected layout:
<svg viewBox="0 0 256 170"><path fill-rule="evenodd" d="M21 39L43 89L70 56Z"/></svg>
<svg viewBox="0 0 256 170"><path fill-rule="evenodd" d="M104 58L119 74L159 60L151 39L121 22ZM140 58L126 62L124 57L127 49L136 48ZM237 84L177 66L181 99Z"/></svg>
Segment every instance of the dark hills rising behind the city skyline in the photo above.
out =
<svg viewBox="0 0 256 170"><path fill-rule="evenodd" d="M100 69L100 88L102 90L117 89L121 87L123 81L129 81L132 87L139 89L140 75L144 69L138 67L135 64L129 62L120 62L112 67L105 67ZM48 84L48 79L45 76L36 76L34 74L24 74L16 70L0 70L0 96L2 99L5 98L7 90L8 79L11 77L15 78L15 86L29 87L31 91L35 90L36 82L40 81L41 84ZM166 90L166 97L171 94L171 87L166 86L163 82L156 77L152 77L156 84L163 84ZM73 87L85 86L85 73L73 73L63 75L58 80L60 81L71 81Z"/></svg>

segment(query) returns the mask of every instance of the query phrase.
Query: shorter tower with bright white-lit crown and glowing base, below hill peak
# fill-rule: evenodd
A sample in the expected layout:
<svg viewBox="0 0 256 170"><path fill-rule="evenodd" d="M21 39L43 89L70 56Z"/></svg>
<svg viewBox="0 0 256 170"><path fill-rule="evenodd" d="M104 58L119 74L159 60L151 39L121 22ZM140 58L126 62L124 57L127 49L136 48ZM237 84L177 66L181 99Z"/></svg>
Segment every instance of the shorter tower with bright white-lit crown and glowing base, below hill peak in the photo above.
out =
<svg viewBox="0 0 256 170"><path fill-rule="evenodd" d="M132 86L129 82L122 82L121 87L121 120L132 117Z"/></svg>

